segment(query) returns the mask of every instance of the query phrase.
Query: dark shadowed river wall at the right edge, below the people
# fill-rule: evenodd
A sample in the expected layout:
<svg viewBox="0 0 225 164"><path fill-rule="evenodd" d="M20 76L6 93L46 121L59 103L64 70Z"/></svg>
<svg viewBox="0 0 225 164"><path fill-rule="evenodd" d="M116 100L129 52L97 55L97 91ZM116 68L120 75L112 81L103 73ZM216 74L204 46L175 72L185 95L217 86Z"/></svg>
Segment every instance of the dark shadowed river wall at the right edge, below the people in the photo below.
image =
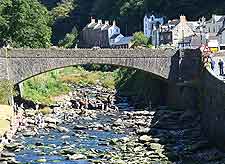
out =
<svg viewBox="0 0 225 164"><path fill-rule="evenodd" d="M225 83L210 68L202 75L202 127L210 141L225 150Z"/></svg>

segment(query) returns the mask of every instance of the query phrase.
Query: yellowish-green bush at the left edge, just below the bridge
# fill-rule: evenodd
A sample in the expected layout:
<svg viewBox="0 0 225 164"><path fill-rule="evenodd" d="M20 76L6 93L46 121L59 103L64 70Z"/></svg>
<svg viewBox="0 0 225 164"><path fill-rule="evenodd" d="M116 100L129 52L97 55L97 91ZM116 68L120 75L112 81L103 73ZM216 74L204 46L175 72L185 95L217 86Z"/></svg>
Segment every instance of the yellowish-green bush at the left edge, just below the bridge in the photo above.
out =
<svg viewBox="0 0 225 164"><path fill-rule="evenodd" d="M8 80L0 81L0 104L8 104L12 95L14 95L13 84Z"/></svg>

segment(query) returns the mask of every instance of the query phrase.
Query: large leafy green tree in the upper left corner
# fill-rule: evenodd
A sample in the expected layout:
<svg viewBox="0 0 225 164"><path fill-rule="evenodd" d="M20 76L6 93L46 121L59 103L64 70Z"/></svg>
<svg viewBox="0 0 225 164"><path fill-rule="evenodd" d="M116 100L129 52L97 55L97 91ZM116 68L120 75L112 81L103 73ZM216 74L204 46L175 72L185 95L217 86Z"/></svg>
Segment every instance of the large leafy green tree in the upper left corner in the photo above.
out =
<svg viewBox="0 0 225 164"><path fill-rule="evenodd" d="M12 47L49 47L51 17L38 0L1 0L0 40Z"/></svg>

